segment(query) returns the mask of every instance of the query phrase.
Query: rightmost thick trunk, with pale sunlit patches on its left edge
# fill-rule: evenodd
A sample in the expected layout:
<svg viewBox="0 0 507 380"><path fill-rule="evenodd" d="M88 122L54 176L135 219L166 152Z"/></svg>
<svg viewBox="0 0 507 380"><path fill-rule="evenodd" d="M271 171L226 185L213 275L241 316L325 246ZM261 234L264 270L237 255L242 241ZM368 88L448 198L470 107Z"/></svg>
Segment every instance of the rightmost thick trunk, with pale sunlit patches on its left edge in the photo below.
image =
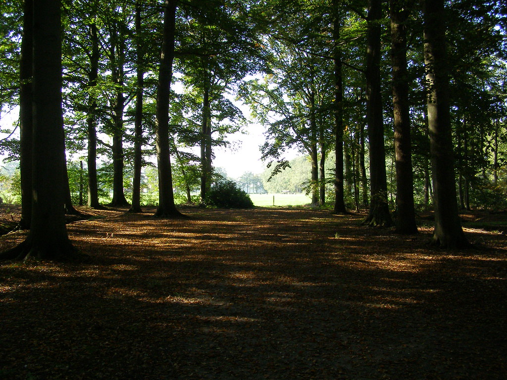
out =
<svg viewBox="0 0 507 380"><path fill-rule="evenodd" d="M424 62L435 207L433 243L456 248L468 242L461 229L456 201L444 20L444 0L425 0Z"/></svg>

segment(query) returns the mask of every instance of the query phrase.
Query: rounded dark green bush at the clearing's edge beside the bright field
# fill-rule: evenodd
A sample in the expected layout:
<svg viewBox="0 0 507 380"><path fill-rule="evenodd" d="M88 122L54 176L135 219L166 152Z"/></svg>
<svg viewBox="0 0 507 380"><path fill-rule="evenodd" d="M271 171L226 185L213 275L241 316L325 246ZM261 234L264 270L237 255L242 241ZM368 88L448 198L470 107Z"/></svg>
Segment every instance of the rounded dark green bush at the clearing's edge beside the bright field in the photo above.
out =
<svg viewBox="0 0 507 380"><path fill-rule="evenodd" d="M206 204L213 207L253 208L253 203L234 181L222 180L214 183L206 197Z"/></svg>

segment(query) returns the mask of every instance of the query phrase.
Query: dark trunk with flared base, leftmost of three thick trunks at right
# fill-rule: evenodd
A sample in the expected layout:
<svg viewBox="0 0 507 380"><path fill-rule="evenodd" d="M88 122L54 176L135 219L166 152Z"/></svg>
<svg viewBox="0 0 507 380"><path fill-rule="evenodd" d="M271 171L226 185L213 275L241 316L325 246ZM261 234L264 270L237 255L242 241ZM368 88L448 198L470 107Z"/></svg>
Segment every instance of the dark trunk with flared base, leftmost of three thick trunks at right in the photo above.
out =
<svg viewBox="0 0 507 380"><path fill-rule="evenodd" d="M382 1L370 0L367 17L366 108L370 141L370 212L368 225L392 225L387 203L384 122L380 82Z"/></svg>

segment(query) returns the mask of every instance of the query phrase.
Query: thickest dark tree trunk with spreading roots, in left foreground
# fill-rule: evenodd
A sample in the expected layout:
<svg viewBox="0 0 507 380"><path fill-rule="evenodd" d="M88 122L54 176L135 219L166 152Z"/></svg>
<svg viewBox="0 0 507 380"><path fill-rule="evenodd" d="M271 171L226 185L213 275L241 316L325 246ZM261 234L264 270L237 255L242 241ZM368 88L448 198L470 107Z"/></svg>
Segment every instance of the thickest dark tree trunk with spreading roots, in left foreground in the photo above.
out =
<svg viewBox="0 0 507 380"><path fill-rule="evenodd" d="M28 237L1 258L66 259L73 252L64 214L61 3L33 3L33 182ZM29 12L29 10L28 10Z"/></svg>

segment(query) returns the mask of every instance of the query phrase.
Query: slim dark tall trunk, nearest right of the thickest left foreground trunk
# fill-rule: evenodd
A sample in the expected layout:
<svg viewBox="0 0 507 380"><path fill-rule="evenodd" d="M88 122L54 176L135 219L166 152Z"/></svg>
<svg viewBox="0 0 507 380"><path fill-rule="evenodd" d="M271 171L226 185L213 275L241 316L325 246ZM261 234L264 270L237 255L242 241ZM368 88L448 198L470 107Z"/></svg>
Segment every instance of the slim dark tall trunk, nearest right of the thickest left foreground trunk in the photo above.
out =
<svg viewBox="0 0 507 380"><path fill-rule="evenodd" d="M90 88L97 86L98 78L98 32L97 24L92 22L90 25L90 35L92 44L92 54L90 58L90 73L88 76L88 85ZM98 201L98 181L97 181L97 131L96 131L96 112L97 112L97 99L93 92L89 95L88 99L88 115L86 118L87 133L88 133L88 207L99 208Z"/></svg>

